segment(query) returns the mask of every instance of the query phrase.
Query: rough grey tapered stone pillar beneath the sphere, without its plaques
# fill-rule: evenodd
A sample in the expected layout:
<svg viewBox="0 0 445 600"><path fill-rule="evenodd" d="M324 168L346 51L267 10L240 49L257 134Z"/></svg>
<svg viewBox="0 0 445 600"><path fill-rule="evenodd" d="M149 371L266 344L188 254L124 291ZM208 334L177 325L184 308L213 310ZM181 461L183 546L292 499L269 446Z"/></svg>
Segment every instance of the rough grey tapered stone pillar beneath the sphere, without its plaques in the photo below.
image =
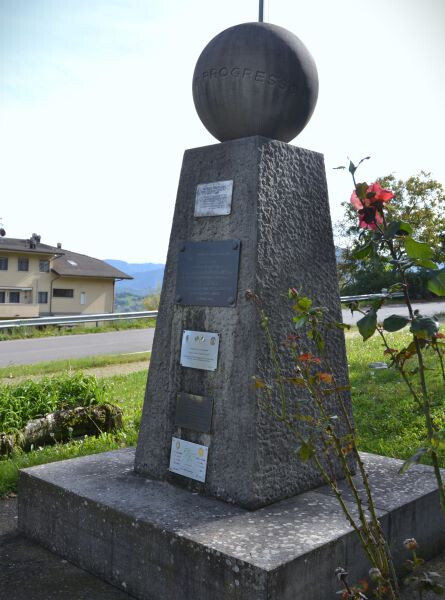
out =
<svg viewBox="0 0 445 600"><path fill-rule="evenodd" d="M198 183L233 179L232 213L195 218ZM241 240L237 303L234 308L175 303L177 259L185 241ZM323 157L288 144L252 137L185 153L151 357L135 468L247 508L293 496L321 480L294 457L296 441L258 406L252 377L272 374L257 308L246 290L261 298L272 333L280 343L291 333L284 297L297 287L341 320L336 262ZM181 367L184 329L221 334L215 372ZM341 331L328 354L338 380L347 383ZM281 347L283 368L292 373ZM177 392L213 398L210 435L174 426ZM302 406L303 392L288 389L289 405ZM349 398L345 401L349 406ZM307 410L311 410L310 406ZM332 414L338 407L329 407ZM207 479L198 484L168 471L172 436L209 448Z"/></svg>

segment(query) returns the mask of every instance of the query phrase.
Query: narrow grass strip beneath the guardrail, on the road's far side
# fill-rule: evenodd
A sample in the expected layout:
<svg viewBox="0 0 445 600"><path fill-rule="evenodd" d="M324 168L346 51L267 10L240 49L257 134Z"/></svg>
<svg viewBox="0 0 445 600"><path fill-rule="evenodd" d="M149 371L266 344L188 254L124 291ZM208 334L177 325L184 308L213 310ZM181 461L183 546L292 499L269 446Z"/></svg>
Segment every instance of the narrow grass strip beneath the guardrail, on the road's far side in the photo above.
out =
<svg viewBox="0 0 445 600"><path fill-rule="evenodd" d="M103 323L103 321L102 321ZM21 340L28 338L54 337L61 335L81 335L85 333L108 333L123 329L145 329L156 327L156 319L128 319L122 321L109 321L100 327L86 327L83 324L67 325L40 325L39 327L14 327L9 331L0 331L0 341Z"/></svg>

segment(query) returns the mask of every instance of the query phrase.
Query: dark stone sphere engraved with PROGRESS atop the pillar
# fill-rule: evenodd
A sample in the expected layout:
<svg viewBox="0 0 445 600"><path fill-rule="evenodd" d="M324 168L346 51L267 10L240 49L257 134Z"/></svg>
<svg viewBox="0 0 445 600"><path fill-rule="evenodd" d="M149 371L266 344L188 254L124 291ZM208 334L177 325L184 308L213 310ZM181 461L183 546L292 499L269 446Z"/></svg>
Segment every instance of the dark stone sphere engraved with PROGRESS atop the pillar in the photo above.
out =
<svg viewBox="0 0 445 600"><path fill-rule="evenodd" d="M193 100L221 142L252 135L290 142L308 123L318 96L314 59L296 35L270 23L243 23L204 48Z"/></svg>

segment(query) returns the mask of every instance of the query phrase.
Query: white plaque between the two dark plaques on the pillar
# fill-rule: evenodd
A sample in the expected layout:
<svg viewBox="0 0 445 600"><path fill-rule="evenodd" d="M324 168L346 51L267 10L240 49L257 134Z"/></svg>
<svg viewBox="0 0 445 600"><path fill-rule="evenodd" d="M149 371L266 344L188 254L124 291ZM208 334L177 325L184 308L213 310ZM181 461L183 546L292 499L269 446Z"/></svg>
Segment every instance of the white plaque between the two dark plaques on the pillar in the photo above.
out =
<svg viewBox="0 0 445 600"><path fill-rule="evenodd" d="M219 333L185 330L182 334L180 364L191 369L216 371L218 348Z"/></svg>

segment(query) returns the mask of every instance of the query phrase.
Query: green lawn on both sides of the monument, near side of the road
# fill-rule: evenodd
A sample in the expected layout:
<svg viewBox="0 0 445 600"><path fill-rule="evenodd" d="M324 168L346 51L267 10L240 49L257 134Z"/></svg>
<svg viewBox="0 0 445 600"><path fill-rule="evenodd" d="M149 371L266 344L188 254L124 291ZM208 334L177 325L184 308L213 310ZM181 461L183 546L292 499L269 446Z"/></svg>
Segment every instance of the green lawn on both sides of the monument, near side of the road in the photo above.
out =
<svg viewBox="0 0 445 600"><path fill-rule="evenodd" d="M388 334L390 344L394 347L407 342L409 334L399 332ZM354 417L362 450L397 458L408 458L422 446L425 439L425 426L422 411L411 399L405 384L393 369L373 370L369 363L382 361L383 347L377 336L363 342L356 330L346 335L348 364L351 382L351 394ZM134 355L139 360L141 355ZM93 362L113 360L128 362L124 357L99 357ZM101 362L102 361L102 362ZM60 363L47 364L46 373L59 372L66 367ZM429 359L432 367L435 362ZM114 363L116 364L116 363ZM90 361L70 361L69 368L76 370L92 365ZM413 363L414 366L414 363ZM34 366L39 368L37 365ZM31 367L18 367L20 370ZM42 368L42 367L40 367ZM42 371L40 371L42 372ZM26 374L30 374L28 371ZM86 454L104 452L116 448L135 445L141 418L144 397L146 370L126 376L108 378L107 399L120 406L124 412L124 429L118 434L103 434L98 438L86 438L72 441L65 445L56 445L36 449L27 454L17 453L12 459L0 460L0 496L13 491L16 486L19 468L74 458ZM434 418L440 428L445 428L445 394L437 369L428 371L434 402ZM442 465L445 466L445 457Z"/></svg>

